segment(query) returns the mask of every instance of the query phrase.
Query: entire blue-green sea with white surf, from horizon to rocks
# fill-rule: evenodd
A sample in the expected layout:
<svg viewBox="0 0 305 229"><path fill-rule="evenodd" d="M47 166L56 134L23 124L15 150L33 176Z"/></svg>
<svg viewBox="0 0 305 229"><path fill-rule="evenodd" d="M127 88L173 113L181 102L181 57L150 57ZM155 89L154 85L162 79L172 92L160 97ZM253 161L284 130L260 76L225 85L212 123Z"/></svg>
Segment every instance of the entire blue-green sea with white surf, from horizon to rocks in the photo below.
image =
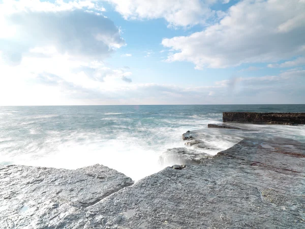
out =
<svg viewBox="0 0 305 229"><path fill-rule="evenodd" d="M209 147L201 150L211 155L249 136L305 143L304 125L207 128L222 123L223 111L305 112L305 105L0 106L0 164L76 169L99 163L137 181L168 166L160 155L186 147L181 134L188 130L205 134Z"/></svg>

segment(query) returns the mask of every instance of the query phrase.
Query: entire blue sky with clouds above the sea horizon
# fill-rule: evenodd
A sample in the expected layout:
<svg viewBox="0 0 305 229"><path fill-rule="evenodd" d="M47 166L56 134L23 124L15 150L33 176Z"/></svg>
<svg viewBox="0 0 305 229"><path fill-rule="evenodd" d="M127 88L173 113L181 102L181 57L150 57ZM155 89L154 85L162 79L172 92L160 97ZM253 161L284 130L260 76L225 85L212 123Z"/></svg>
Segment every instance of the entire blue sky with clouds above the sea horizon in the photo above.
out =
<svg viewBox="0 0 305 229"><path fill-rule="evenodd" d="M0 105L304 104L305 0L0 0Z"/></svg>

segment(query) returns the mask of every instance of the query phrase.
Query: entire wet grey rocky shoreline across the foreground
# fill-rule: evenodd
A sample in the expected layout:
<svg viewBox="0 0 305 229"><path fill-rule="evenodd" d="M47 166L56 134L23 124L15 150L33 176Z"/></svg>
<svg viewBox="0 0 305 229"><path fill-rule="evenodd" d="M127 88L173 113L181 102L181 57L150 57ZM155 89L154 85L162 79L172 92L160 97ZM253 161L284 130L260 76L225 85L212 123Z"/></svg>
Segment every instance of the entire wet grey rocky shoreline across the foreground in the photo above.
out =
<svg viewBox="0 0 305 229"><path fill-rule="evenodd" d="M178 165L136 183L103 165L0 166L0 228L305 228L305 144L246 138L211 156L189 149L206 147L199 132L182 138L160 156Z"/></svg>

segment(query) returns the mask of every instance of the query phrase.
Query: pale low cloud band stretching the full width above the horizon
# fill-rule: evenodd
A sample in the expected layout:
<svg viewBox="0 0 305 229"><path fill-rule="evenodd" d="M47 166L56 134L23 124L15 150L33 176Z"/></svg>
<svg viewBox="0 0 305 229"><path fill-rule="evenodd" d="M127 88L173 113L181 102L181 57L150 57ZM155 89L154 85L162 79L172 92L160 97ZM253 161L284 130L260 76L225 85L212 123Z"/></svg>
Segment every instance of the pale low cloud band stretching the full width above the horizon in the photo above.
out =
<svg viewBox="0 0 305 229"><path fill-rule="evenodd" d="M130 69L57 55L27 56L15 67L0 60L0 75L7 76L0 78L0 105L302 103L305 96L305 70L190 87L131 83Z"/></svg>

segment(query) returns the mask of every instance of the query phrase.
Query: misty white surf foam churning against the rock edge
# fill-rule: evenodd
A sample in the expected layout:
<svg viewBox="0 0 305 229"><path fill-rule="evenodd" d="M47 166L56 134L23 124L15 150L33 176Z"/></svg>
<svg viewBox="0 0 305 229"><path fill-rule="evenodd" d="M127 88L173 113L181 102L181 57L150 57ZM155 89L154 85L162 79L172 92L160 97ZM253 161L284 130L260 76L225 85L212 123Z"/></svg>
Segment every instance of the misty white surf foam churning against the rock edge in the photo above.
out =
<svg viewBox="0 0 305 229"><path fill-rule="evenodd" d="M147 124L149 119L153 120L153 117L139 121L136 126L128 126L132 119L107 117L103 120L115 121L115 126L100 127L105 131L98 129L86 132L27 128L35 124L27 120L28 122L18 124L18 127L27 128L30 133L27 137L11 141L12 138L6 137L5 132L0 132L0 164L75 169L99 163L116 169L133 180L139 180L165 167L159 165L159 156L166 149L186 147L181 134L188 130L202 129L204 142L208 147L215 148L202 151L211 155L232 147L243 137L257 136L258 133L305 140L304 126L236 124L244 129L252 129L243 131L207 128L208 123L220 122L200 115L181 120L161 119L153 124ZM121 124L124 122L126 123ZM111 133L107 130L111 130ZM40 134L44 137L39 138Z"/></svg>

